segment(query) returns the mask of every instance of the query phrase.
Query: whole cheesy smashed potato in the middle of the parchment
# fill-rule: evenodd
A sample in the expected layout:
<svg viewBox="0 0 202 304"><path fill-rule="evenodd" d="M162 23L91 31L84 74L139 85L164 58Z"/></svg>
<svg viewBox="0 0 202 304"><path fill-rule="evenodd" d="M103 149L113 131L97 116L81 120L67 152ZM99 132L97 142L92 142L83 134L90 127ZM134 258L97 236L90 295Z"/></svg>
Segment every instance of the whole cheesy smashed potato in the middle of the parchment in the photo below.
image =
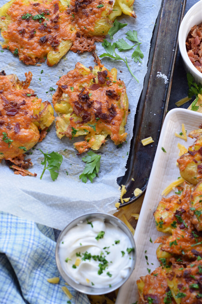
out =
<svg viewBox="0 0 202 304"><path fill-rule="evenodd" d="M128 114L128 98L124 82L117 80L117 70L106 69L98 60L94 67L77 63L75 69L62 76L53 95L56 133L61 139L84 135L74 143L79 153L89 148L98 150L110 135L116 145L126 140L124 126Z"/></svg>

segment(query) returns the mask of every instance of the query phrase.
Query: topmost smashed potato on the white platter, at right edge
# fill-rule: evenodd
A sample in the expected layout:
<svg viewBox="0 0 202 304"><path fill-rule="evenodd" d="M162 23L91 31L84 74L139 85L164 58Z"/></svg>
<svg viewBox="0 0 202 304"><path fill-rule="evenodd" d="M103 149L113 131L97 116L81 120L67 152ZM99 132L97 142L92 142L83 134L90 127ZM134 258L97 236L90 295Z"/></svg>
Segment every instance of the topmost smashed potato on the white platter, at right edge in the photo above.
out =
<svg viewBox="0 0 202 304"><path fill-rule="evenodd" d="M177 160L180 175L190 184L197 185L202 178L202 129L194 130L189 133L189 137L196 138L188 152L180 156Z"/></svg>

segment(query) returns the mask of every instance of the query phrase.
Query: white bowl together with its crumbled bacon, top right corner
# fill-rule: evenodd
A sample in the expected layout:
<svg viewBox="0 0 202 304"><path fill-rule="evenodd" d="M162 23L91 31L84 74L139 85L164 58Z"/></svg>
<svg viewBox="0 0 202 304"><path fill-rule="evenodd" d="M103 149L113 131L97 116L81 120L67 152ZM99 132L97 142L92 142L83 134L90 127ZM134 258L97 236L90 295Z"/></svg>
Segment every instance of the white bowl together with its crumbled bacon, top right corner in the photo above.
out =
<svg viewBox="0 0 202 304"><path fill-rule="evenodd" d="M178 42L185 70L192 74L197 83L202 83L202 0L184 16Z"/></svg>

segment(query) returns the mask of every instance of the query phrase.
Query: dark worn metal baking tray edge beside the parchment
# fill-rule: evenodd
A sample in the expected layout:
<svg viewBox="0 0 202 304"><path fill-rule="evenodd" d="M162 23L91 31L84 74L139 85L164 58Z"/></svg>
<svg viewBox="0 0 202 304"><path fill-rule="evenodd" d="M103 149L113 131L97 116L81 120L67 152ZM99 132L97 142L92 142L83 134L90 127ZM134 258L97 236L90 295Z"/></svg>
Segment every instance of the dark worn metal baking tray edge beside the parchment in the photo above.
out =
<svg viewBox="0 0 202 304"><path fill-rule="evenodd" d="M177 57L177 37L180 23L184 16L186 0L162 0L161 8L154 26L151 48L147 64L147 74L144 87L137 105L134 118L133 138L127 160L127 171L118 178L119 185L125 185L130 197L128 202L120 207L137 200L147 188L162 123L167 113L168 101ZM167 76L157 78L157 72ZM153 144L143 146L141 140L151 136ZM134 178L134 181L131 180ZM141 195L134 196L134 189L140 188Z"/></svg>

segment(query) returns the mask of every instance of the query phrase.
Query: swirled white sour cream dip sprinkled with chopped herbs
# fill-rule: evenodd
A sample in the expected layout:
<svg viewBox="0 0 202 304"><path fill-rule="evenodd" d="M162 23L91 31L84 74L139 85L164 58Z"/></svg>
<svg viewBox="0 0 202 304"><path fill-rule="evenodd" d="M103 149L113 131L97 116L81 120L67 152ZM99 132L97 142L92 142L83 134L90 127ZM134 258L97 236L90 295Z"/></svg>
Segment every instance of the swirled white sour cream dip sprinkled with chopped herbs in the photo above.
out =
<svg viewBox="0 0 202 304"><path fill-rule="evenodd" d="M65 273L93 288L111 287L127 277L133 252L126 233L101 218L80 221L63 236L58 249Z"/></svg>

